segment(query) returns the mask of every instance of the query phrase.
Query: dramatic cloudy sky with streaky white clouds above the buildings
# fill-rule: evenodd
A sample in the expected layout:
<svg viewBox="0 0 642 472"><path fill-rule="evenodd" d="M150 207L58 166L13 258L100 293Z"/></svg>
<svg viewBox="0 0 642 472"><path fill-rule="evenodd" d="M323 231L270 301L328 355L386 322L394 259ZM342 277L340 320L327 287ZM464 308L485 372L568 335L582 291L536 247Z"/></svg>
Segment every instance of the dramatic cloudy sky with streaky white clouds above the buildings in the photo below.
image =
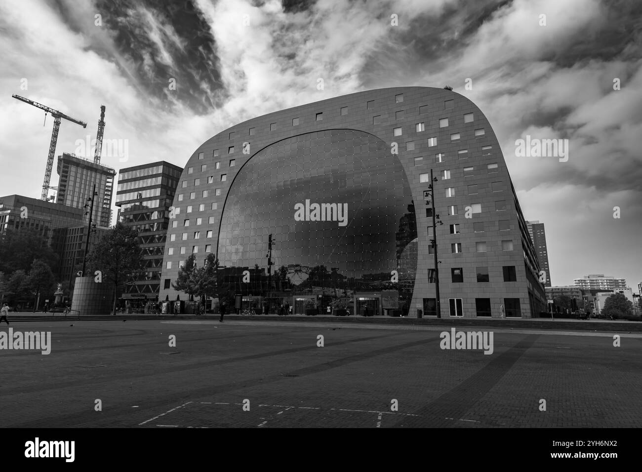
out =
<svg viewBox="0 0 642 472"><path fill-rule="evenodd" d="M63 121L56 155L94 139L106 105L105 139L128 158L102 162L119 169L184 166L279 109L451 85L490 120L525 218L545 223L553 284L642 281L639 0L3 0L0 51L0 195L40 196L53 125L14 93L88 123ZM526 135L569 139L568 161L516 157Z"/></svg>

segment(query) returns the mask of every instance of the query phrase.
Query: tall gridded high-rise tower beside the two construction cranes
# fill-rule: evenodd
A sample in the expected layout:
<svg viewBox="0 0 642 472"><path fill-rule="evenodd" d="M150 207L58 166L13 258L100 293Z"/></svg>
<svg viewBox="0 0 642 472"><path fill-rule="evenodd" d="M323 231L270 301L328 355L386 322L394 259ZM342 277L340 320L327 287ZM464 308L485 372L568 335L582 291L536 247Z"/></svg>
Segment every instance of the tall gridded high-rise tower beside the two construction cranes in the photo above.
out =
<svg viewBox="0 0 642 472"><path fill-rule="evenodd" d="M112 218L112 192L116 171L72 153L58 156L58 195L56 203L68 207L83 208L96 184L96 199L92 223L108 228ZM85 221L89 215L85 216Z"/></svg>

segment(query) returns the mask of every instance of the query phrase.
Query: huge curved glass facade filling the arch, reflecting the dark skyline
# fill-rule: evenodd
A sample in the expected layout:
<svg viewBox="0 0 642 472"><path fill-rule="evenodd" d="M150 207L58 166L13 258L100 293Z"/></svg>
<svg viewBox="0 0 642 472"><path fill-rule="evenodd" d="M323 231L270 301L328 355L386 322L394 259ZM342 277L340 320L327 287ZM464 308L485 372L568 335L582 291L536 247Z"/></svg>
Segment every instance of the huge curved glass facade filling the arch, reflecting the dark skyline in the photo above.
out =
<svg viewBox="0 0 642 472"><path fill-rule="evenodd" d="M232 183L218 256L230 292L261 296L274 306L294 294L299 312L329 311L338 298L352 313L407 312L417 223L403 167L384 141L356 130L274 143ZM250 283L241 282L244 270Z"/></svg>

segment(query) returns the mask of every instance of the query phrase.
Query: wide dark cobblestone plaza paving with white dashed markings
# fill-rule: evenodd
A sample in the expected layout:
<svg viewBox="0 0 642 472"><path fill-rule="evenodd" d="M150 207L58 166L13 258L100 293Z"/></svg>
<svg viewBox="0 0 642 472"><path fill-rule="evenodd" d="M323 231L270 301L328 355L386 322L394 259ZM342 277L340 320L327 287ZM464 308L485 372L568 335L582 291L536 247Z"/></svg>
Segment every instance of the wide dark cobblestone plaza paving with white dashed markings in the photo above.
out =
<svg viewBox="0 0 642 472"><path fill-rule="evenodd" d="M0 401L11 405L3 427L642 426L639 334L622 333L614 347L612 333L495 330L485 355L440 349L434 327L70 320L10 328L51 331L52 347L0 350Z"/></svg>

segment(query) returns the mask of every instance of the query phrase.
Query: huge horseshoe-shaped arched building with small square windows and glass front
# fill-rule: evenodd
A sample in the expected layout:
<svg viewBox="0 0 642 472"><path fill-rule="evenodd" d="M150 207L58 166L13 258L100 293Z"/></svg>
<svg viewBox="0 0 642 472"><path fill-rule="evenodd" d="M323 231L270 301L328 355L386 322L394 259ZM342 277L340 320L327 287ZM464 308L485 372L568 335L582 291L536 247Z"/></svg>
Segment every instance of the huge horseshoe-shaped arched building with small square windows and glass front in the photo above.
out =
<svg viewBox="0 0 642 472"><path fill-rule="evenodd" d="M214 252L230 292L268 310L436 316L437 249L442 317L546 311L498 139L446 89L358 92L234 125L191 154L173 206L161 299L184 295L170 284L189 254Z"/></svg>

